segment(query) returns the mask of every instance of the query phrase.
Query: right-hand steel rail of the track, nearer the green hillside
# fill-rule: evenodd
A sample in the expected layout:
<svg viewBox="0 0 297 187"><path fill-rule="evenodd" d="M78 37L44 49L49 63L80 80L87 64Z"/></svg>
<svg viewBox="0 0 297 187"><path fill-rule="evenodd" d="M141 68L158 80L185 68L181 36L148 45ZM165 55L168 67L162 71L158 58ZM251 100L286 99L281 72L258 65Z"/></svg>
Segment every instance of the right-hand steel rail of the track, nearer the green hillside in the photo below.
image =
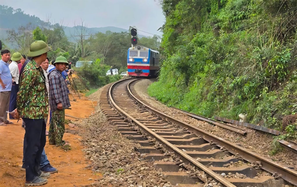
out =
<svg viewBox="0 0 297 187"><path fill-rule="evenodd" d="M134 80L136 81L136 80ZM134 82L131 81L127 87L130 93L130 96L133 97L135 100L137 100L140 104L142 104L146 110L150 111L151 113L157 114L158 116L173 122L177 125L180 125L181 127L187 128L189 132L192 132L196 135L202 135L205 137L205 140L207 140L208 142L210 140L213 140L213 142L218 143L219 146L225 146L225 148L228 149L228 151L234 155L239 154L240 156L242 156L242 158L245 161L248 161L250 163L254 162L254 161L260 161L262 164L262 169L270 172L270 173L275 173L277 172L278 175L280 175L285 181L294 184L295 186L297 186L297 172L294 171L293 169L290 169L286 166L282 166L281 164L278 164L274 161L271 161L267 158L264 158L261 155L258 155L256 153L250 152L249 150L240 147L232 142L229 142L225 139L222 139L218 136L215 136L213 134L210 134L198 127L192 126L186 122L183 122L181 120L175 119L173 117L168 116L167 114L164 114L160 111L157 111L156 109L151 108L150 106L146 105L145 103L143 103L142 101L140 101L138 98L135 97L135 95L132 94L131 90L129 89L129 85Z"/></svg>

